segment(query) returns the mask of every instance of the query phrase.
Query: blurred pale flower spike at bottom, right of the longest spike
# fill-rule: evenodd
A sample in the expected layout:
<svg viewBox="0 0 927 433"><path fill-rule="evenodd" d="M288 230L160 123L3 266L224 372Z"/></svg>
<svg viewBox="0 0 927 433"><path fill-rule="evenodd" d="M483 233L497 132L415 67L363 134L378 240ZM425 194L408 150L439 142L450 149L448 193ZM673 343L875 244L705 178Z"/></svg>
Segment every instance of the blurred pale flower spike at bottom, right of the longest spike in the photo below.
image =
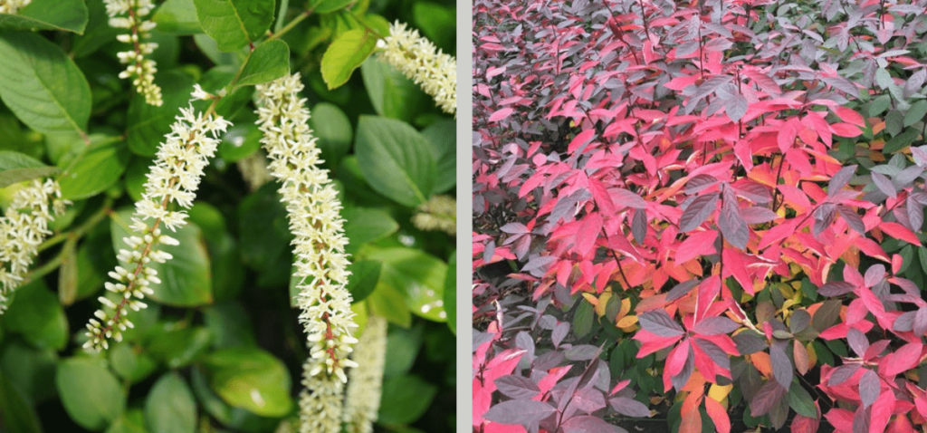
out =
<svg viewBox="0 0 927 433"><path fill-rule="evenodd" d="M360 340L351 354L358 366L349 373L344 421L349 433L372 433L380 409L387 358L387 319L370 316Z"/></svg>

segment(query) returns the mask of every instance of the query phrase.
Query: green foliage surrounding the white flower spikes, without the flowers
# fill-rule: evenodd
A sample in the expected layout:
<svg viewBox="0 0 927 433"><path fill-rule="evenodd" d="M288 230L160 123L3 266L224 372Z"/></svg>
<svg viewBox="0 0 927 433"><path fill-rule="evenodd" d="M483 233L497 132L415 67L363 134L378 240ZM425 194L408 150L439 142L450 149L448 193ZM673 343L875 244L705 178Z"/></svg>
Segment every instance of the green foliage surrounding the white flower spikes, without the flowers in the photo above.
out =
<svg viewBox="0 0 927 433"><path fill-rule="evenodd" d="M126 31L108 25L103 0L32 0L0 14L0 215L33 179L56 180L71 201L0 315L0 431L270 433L297 417L309 353L293 308L293 235L280 184L246 175L265 155L255 85L297 72L343 204L358 332L371 314L390 324L375 428L452 426L455 242L412 217L455 193L454 120L375 59L396 19L452 52L453 5L420 3L156 2L147 19L159 47L146 57L157 62L159 107L119 78L117 53L131 45L116 40ZM191 103L195 83L221 99ZM104 284L127 267L116 255L150 165L191 106L233 126L187 223L160 226L180 245L152 263L160 284L147 308L129 313L121 341L85 351L98 299L121 301Z"/></svg>

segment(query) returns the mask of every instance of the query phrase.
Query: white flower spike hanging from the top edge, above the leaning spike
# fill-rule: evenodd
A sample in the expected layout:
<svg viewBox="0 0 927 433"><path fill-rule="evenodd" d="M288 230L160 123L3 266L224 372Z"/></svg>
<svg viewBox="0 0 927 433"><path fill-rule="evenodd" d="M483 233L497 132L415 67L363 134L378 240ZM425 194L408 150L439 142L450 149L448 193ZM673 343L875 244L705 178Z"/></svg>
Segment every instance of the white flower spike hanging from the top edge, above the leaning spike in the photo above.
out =
<svg viewBox="0 0 927 433"><path fill-rule="evenodd" d="M158 44L142 42L148 38L148 32L155 28L154 22L143 19L154 8L151 0L105 0L105 2L109 14L109 25L130 31L120 34L117 39L121 43L133 45L133 49L117 54L121 63L129 65L126 70L120 72L119 78L133 78L135 90L145 96L145 102L160 106L163 103L161 88L155 84L155 72L158 69L155 68L154 60L145 58L158 47ZM128 17L125 17L127 14Z"/></svg>

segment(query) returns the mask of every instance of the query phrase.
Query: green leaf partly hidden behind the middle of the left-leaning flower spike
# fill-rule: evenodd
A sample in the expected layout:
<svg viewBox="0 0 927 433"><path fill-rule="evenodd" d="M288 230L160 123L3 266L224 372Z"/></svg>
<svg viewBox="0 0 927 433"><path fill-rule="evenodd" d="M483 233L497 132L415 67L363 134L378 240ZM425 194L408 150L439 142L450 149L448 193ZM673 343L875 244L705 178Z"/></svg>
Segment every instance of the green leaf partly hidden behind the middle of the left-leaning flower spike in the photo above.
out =
<svg viewBox="0 0 927 433"><path fill-rule="evenodd" d="M120 210L113 213L110 223L113 249L131 249L123 237L133 236L129 224L133 210ZM171 254L173 259L164 262L151 262L148 266L158 272L161 284L152 284L155 293L149 298L174 307L195 307L212 303L212 282L210 274L210 257L206 252L199 227L187 223L178 228L171 237L180 241L180 245L161 245L163 251ZM128 263L121 266L129 269Z"/></svg>

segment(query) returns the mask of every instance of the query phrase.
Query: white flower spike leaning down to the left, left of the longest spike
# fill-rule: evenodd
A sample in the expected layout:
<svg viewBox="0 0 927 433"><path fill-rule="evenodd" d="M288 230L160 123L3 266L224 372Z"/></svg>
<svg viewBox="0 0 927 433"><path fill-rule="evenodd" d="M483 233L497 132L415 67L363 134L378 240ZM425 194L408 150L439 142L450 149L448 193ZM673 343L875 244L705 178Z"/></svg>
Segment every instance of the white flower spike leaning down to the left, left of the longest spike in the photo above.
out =
<svg viewBox="0 0 927 433"><path fill-rule="evenodd" d="M99 320L90 319L87 325L86 336L90 339L85 348L106 349L110 337L120 341L121 331L133 326L126 318L127 309L146 308L141 299L153 293L152 283L160 283L157 272L148 263L171 260L171 254L159 246L178 245L159 226L163 224L176 231L186 224L186 212L170 210L171 203L185 209L193 206L203 170L219 146L216 137L229 125L221 116L195 113L192 106L181 108L181 115L171 125L171 133L165 137L147 174L145 193L135 203L130 226L134 235L122 239L130 249L120 249L117 258L121 266L109 273L116 282L107 282L106 288L115 296L99 298L104 308L95 312Z"/></svg>

